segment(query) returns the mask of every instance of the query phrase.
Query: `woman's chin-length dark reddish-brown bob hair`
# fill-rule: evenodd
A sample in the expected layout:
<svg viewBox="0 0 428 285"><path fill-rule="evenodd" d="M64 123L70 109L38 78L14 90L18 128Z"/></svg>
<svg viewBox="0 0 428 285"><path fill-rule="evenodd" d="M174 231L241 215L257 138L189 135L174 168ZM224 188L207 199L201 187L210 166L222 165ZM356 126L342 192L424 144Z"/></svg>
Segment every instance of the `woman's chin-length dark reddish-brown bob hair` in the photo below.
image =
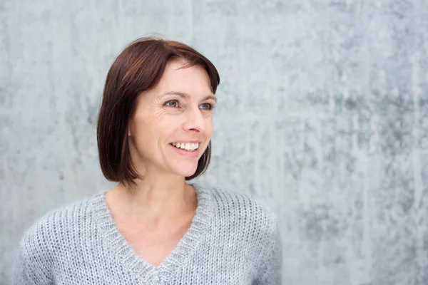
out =
<svg viewBox="0 0 428 285"><path fill-rule="evenodd" d="M98 155L107 180L135 185L134 180L143 178L131 160L128 122L133 117L138 95L155 87L168 61L174 59L183 60L183 68L195 65L205 68L213 93L217 90L220 84L217 69L208 58L190 46L153 37L138 38L130 43L108 71L98 115ZM195 173L185 180L203 174L210 164L210 157L211 142L200 157Z"/></svg>

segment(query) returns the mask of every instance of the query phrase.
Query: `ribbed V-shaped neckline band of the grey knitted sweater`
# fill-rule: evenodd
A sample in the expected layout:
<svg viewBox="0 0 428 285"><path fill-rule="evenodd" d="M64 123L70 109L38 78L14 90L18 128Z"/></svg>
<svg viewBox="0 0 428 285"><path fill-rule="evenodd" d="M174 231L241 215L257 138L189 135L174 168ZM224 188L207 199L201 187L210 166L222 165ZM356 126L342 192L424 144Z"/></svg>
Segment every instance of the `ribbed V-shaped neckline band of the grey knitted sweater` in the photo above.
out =
<svg viewBox="0 0 428 285"><path fill-rule="evenodd" d="M196 184L190 184L196 192L198 205L190 227L178 242L168 257L161 264L154 266L142 259L119 232L111 216L106 202L106 191L94 197L94 214L98 228L101 230L103 242L110 254L121 261L124 268L139 280L155 280L163 277L165 281L173 278L174 274L185 261L195 254L200 242L210 225L212 201L210 192ZM158 277L157 277L158 276Z"/></svg>

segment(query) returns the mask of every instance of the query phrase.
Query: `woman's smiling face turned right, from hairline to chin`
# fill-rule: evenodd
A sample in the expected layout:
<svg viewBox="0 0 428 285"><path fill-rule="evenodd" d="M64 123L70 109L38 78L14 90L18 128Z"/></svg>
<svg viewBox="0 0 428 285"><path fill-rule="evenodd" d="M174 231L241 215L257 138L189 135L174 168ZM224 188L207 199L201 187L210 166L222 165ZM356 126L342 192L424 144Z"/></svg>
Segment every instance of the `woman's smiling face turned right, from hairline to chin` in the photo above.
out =
<svg viewBox="0 0 428 285"><path fill-rule="evenodd" d="M193 175L213 133L215 97L202 66L170 61L155 88L141 93L129 123L131 157L146 175ZM181 68L181 69L180 69Z"/></svg>

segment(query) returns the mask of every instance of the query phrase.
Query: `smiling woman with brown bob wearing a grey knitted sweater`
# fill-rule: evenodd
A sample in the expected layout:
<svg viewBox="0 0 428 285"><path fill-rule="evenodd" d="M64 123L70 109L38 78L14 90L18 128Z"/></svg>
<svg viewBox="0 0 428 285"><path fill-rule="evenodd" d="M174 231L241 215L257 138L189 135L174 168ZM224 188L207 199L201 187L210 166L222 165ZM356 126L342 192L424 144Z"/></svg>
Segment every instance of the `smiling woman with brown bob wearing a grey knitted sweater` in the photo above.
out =
<svg viewBox="0 0 428 285"><path fill-rule="evenodd" d="M21 241L16 284L280 284L274 214L186 181L210 162L213 63L141 38L116 58L98 118L103 175L118 185L46 214Z"/></svg>

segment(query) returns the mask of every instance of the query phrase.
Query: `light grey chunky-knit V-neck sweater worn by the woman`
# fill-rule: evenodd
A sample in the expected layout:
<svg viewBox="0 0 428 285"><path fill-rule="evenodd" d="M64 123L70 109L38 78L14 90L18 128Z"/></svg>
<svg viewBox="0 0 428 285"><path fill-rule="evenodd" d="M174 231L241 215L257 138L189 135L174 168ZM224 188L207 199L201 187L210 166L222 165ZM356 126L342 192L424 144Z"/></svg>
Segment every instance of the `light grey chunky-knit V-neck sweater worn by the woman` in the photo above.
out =
<svg viewBox="0 0 428 285"><path fill-rule="evenodd" d="M270 208L248 195L193 187L192 223L159 266L133 251L98 192L26 231L14 284L281 284L282 243Z"/></svg>

